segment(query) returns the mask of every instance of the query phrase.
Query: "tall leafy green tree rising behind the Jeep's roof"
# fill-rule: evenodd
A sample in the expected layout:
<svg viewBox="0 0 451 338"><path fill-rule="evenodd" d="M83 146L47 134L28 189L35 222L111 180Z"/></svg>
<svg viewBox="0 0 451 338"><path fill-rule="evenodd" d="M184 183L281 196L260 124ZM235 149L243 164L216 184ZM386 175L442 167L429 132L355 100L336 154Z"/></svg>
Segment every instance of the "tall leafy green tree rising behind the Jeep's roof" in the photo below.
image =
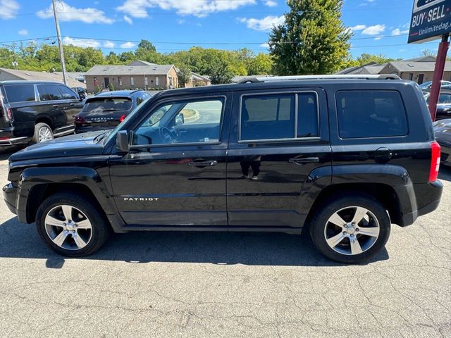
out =
<svg viewBox="0 0 451 338"><path fill-rule="evenodd" d="M349 55L342 0L288 0L285 23L273 27L269 50L278 75L334 73Z"/></svg>

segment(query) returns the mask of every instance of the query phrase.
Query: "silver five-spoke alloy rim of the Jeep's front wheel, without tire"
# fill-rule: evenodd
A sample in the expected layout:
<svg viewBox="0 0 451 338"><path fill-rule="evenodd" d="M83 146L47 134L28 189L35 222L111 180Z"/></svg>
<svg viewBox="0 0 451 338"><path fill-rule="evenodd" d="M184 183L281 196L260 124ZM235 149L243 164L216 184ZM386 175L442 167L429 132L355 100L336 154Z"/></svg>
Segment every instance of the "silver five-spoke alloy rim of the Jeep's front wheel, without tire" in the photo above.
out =
<svg viewBox="0 0 451 338"><path fill-rule="evenodd" d="M44 225L51 241L63 249L80 250L92 238L91 222L74 206L55 206L47 213Z"/></svg>

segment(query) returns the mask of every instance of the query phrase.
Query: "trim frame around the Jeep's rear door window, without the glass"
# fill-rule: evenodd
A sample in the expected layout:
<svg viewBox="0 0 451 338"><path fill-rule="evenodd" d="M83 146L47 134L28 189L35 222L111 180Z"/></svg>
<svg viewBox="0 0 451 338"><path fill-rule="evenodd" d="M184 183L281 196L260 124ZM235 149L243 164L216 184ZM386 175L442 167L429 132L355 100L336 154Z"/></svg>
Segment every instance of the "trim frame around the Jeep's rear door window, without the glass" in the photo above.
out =
<svg viewBox="0 0 451 338"><path fill-rule="evenodd" d="M299 118L299 94L304 93L313 93L316 97L316 121L317 121L317 128L316 133L317 136L315 137L297 137L297 120ZM241 139L241 113L242 113L242 100L245 96L263 96L263 95L278 95L278 94L293 94L295 96L295 130L294 130L294 136L295 137L285 137L282 139ZM319 116L319 95L318 92L315 90L295 90L295 91L284 91L284 92L255 92L250 94L242 94L240 96L240 111L238 114L238 140L237 143L239 144L248 144L248 143L271 143L271 142L302 142L302 141L314 141L321 139L321 133L320 133L320 116Z"/></svg>

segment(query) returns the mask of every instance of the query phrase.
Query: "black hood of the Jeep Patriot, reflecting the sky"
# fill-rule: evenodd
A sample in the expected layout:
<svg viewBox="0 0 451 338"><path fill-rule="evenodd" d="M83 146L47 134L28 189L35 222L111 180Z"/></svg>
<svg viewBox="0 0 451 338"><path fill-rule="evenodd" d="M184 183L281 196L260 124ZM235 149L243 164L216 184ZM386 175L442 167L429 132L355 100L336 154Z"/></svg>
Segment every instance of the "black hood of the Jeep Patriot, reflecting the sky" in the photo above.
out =
<svg viewBox="0 0 451 338"><path fill-rule="evenodd" d="M104 131L73 134L39 144L33 144L11 155L9 161L55 157L60 157L63 161L63 158L68 156L100 155L104 151L104 146L101 142L99 144L94 143L94 137L102 133Z"/></svg>

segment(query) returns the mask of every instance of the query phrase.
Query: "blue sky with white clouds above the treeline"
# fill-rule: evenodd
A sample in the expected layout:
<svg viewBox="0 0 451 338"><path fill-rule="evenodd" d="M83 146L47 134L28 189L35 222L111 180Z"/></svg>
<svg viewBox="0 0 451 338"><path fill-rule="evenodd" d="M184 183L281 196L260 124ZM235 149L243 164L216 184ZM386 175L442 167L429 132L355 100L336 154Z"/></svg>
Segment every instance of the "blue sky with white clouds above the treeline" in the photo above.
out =
<svg viewBox="0 0 451 338"><path fill-rule="evenodd" d="M354 32L352 55L412 58L436 51L438 40L407 44L412 0L345 0L343 22ZM268 30L283 22L283 0L60 0L64 43L105 53L134 49L148 39L158 51L190 46L267 51ZM0 43L56 35L50 0L0 0ZM121 41L118 41L121 40ZM37 39L51 43L54 39Z"/></svg>

